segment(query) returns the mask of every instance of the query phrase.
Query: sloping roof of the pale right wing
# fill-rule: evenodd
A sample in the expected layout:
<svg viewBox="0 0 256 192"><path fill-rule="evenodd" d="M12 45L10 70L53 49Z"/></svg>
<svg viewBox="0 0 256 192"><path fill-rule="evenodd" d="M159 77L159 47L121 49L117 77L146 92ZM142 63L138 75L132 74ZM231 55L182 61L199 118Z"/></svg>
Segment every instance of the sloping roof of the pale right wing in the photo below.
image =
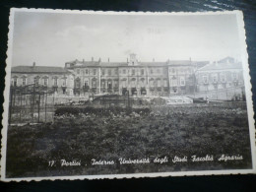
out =
<svg viewBox="0 0 256 192"><path fill-rule="evenodd" d="M210 63L198 69L198 71L242 69L240 62L237 63Z"/></svg>

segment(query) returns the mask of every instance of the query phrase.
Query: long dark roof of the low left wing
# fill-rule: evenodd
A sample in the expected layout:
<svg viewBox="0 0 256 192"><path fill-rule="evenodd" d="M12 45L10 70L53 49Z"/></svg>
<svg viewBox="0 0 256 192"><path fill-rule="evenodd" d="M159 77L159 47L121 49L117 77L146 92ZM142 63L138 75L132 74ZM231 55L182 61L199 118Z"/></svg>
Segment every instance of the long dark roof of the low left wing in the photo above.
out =
<svg viewBox="0 0 256 192"><path fill-rule="evenodd" d="M51 66L17 66L12 67L12 73L70 73L62 67Z"/></svg>

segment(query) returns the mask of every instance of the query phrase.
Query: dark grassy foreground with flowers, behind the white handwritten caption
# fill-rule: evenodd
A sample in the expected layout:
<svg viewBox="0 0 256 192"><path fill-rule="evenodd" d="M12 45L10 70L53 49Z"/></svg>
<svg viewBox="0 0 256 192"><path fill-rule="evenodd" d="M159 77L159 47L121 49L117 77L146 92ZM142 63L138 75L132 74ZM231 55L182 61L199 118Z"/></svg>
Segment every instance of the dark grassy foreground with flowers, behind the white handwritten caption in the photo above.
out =
<svg viewBox="0 0 256 192"><path fill-rule="evenodd" d="M7 177L251 167L245 104L62 108L56 110L54 123L9 126L7 149ZM194 155L215 160L193 162ZM218 161L222 155L243 160ZM175 156L188 161L174 163ZM154 163L157 157L168 161ZM120 158L151 162L120 164ZM93 159L114 164L92 165ZM61 160L81 165L61 166Z"/></svg>

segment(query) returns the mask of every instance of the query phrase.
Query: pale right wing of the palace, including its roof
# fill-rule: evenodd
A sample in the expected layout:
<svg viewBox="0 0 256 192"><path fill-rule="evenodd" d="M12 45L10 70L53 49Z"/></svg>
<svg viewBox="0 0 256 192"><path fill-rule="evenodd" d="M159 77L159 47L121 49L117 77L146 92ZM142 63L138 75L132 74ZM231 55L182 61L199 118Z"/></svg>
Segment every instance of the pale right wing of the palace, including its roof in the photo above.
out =
<svg viewBox="0 0 256 192"><path fill-rule="evenodd" d="M234 99L236 96L241 99L245 96L242 64L231 57L205 65L195 76L197 92L210 98Z"/></svg>

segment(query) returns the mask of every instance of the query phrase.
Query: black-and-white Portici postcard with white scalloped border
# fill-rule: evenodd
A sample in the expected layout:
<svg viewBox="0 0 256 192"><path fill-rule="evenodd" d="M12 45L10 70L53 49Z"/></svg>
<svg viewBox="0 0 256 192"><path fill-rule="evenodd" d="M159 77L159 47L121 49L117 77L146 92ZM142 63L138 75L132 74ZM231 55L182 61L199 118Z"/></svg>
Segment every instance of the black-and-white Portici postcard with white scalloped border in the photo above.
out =
<svg viewBox="0 0 256 192"><path fill-rule="evenodd" d="M255 173L242 12L12 9L1 179Z"/></svg>

